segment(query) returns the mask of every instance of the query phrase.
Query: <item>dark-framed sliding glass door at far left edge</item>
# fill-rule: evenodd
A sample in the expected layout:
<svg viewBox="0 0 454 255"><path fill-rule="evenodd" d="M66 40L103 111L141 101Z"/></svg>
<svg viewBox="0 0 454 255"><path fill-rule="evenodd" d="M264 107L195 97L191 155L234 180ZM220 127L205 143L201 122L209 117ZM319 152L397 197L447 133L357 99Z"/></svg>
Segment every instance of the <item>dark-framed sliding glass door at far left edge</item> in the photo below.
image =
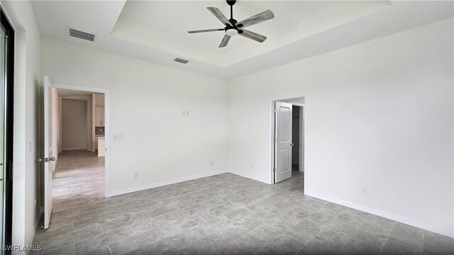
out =
<svg viewBox="0 0 454 255"><path fill-rule="evenodd" d="M0 10L0 249L11 245L14 32Z"/></svg>

